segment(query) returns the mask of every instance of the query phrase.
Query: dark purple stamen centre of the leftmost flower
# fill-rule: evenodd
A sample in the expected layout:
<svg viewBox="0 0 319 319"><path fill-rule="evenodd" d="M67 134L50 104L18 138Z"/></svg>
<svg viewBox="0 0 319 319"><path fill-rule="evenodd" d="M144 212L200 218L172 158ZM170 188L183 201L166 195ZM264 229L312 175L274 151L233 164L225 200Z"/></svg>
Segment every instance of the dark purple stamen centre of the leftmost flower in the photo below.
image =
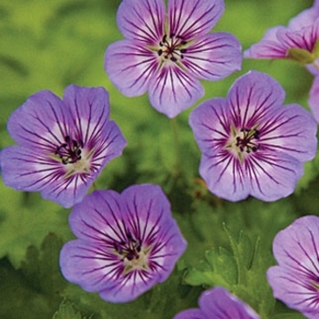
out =
<svg viewBox="0 0 319 319"><path fill-rule="evenodd" d="M56 149L56 155L59 156L63 164L73 164L81 160L83 141L65 137L65 143L62 143Z"/></svg>

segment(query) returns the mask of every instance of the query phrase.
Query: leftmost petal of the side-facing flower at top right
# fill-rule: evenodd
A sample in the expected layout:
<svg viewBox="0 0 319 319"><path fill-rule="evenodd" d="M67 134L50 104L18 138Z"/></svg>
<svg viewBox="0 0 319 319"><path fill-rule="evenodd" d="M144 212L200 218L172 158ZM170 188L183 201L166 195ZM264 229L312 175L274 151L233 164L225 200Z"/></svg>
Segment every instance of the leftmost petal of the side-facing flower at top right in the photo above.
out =
<svg viewBox="0 0 319 319"><path fill-rule="evenodd" d="M279 30L285 30L284 26L274 26L270 28L262 40L243 52L243 57L250 58L285 58L289 47L281 43L277 38Z"/></svg>

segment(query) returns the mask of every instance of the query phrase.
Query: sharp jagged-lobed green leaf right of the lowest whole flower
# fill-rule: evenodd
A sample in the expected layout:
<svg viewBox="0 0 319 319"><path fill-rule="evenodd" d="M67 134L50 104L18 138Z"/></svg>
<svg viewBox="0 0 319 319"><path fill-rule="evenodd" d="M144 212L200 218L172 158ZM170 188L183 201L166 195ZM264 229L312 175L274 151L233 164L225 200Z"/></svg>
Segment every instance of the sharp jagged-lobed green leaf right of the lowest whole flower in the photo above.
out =
<svg viewBox="0 0 319 319"><path fill-rule="evenodd" d="M185 283L206 287L224 286L250 304L262 318L273 312L273 293L265 278L272 264L272 255L260 249L260 239L255 242L243 232L238 236L224 225L232 252L220 247L205 253L198 268L186 273Z"/></svg>

